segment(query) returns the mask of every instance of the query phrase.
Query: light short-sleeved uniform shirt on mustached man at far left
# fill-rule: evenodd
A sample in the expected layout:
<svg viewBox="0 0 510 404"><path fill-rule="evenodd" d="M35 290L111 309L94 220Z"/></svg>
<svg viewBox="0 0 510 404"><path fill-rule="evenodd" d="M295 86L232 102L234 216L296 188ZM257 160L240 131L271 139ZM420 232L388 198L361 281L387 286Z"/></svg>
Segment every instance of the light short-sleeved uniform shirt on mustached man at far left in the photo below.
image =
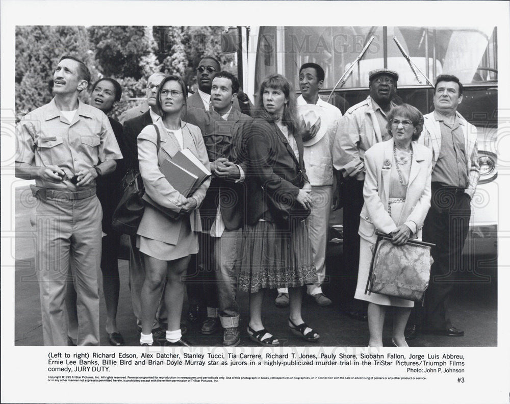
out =
<svg viewBox="0 0 510 404"><path fill-rule="evenodd" d="M71 192L93 188L95 181L79 189L68 179L83 169L90 169L106 160L120 160L119 145L108 117L103 111L78 102L78 110L69 122L55 104L48 104L28 113L16 127L16 161L33 166L59 166L67 175L60 183L42 179L42 188Z"/></svg>

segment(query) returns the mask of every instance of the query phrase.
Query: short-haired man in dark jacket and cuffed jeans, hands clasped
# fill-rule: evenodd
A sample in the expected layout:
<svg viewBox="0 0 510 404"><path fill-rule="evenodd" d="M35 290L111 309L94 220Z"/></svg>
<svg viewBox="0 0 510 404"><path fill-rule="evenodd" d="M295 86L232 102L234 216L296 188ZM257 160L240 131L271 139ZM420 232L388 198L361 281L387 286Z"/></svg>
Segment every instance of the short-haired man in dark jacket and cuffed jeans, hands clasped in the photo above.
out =
<svg viewBox="0 0 510 404"><path fill-rule="evenodd" d="M196 276L190 276L191 288L188 288L188 294L191 295L191 303L193 295L200 295L197 287L205 289L203 295L206 296L208 318L202 325L203 334L216 331L219 307L225 346L236 346L240 342L237 284L233 273L240 248L244 214L242 181L245 168L239 160L239 150L246 126L252 120L233 106L238 90L237 78L231 73L220 71L211 82L212 110L190 108L185 119L196 124L202 131L213 173L213 180L200 207L205 234L200 237L199 266L190 266L190 275ZM213 262L211 257L214 257ZM201 273L197 270L200 266ZM212 278L209 282L199 281L208 281L208 277ZM217 289L211 288L215 283Z"/></svg>

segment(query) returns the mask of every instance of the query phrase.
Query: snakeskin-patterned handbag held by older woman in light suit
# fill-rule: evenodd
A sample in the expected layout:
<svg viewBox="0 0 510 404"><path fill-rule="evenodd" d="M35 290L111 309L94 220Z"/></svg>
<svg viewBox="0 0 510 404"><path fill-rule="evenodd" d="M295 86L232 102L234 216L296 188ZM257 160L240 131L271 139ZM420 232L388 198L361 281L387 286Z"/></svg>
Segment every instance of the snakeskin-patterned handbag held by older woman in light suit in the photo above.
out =
<svg viewBox="0 0 510 404"><path fill-rule="evenodd" d="M379 293L420 301L428 287L433 259L432 243L409 239L391 243L391 236L377 232L365 294Z"/></svg>

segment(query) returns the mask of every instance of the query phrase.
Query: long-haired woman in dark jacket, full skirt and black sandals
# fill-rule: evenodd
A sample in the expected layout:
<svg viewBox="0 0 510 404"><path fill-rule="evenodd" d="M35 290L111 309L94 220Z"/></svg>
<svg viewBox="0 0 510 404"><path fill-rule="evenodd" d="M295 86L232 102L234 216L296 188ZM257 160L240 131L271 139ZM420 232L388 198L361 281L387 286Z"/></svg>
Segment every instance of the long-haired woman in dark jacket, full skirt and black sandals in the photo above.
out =
<svg viewBox="0 0 510 404"><path fill-rule="evenodd" d="M254 342L278 345L262 322L265 289L289 288L289 329L307 341L319 334L301 318L301 287L317 281L305 218L312 198L303 163L293 88L280 74L261 84L245 140L247 209L239 288L250 293L247 333Z"/></svg>

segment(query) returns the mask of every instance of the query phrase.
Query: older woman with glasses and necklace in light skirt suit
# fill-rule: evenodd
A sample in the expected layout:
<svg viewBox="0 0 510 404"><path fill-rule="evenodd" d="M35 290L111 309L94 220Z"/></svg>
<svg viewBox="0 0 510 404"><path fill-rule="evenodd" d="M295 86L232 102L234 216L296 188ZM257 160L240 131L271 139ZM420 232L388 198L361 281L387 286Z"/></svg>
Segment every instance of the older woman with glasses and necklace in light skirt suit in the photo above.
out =
<svg viewBox="0 0 510 404"><path fill-rule="evenodd" d="M369 346L382 346L386 309L394 307L395 346L407 346L404 329L414 302L378 293L365 294L372 260L371 247L376 231L393 236L392 243L403 245L410 237L421 238L423 221L430 208L432 154L415 143L423 129L423 116L415 107L402 104L388 115L392 138L377 143L365 153L365 204L359 234L360 268L354 297L368 305Z"/></svg>

